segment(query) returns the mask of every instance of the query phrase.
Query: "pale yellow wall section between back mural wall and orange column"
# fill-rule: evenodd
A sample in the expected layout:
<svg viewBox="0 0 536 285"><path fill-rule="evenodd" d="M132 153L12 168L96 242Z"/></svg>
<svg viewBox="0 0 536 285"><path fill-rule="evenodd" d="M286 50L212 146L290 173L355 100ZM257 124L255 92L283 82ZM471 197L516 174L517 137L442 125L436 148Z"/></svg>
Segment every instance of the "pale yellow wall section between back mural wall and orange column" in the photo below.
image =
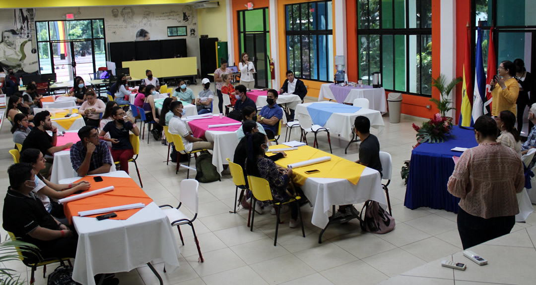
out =
<svg viewBox="0 0 536 285"><path fill-rule="evenodd" d="M227 3L226 0L218 0L220 6L217 8L197 9L199 19L199 35L209 35L217 37L222 42L227 41Z"/></svg>

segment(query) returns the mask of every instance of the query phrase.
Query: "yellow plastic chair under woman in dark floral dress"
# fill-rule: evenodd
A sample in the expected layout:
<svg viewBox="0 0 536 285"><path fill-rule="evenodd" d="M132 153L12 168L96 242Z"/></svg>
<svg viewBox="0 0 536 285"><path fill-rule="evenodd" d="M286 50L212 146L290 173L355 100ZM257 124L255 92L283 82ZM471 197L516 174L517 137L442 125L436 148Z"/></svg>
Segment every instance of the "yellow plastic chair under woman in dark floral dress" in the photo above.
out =
<svg viewBox="0 0 536 285"><path fill-rule="evenodd" d="M253 207L253 210L251 210L251 225L250 225L250 231L253 232L253 220L255 218L255 204L256 201L272 201L273 205L276 207L276 215L277 215L277 221L276 221L276 237L273 240L273 246L275 247L277 245L277 232L279 229L279 213L281 212L281 206L289 203L296 203L298 206L298 218L300 219L300 224L302 227L302 235L305 237L305 229L303 228L303 219L301 217L301 210L300 210L300 203L298 202L301 197L296 196L294 198L289 198L285 201L275 203L273 202L273 196L272 196L272 190L270 190L270 183L263 178L256 177L256 176L250 176L248 175L248 183L249 183L249 189L251 190L253 196L251 199L251 204Z"/></svg>

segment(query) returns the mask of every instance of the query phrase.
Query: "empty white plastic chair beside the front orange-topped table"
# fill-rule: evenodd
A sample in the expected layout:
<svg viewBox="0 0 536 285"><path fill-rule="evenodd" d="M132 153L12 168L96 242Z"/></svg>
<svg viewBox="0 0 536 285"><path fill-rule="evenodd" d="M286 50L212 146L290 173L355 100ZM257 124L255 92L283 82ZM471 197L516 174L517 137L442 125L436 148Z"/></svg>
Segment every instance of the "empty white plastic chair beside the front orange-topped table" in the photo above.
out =
<svg viewBox="0 0 536 285"><path fill-rule="evenodd" d="M199 247L199 240L197 239L196 230L193 228L193 221L197 218L197 211L199 205L199 197L197 194L197 189L199 188L199 182L195 179L184 179L181 181L181 192L180 197L178 198L179 204L176 208L170 205L162 205L160 207L169 207L170 209L163 209L163 212L166 213L168 219L171 222L171 226L177 226L178 234L181 236L182 245L184 245L184 239L182 238L181 225L189 225L192 227L193 240L197 245L197 252L199 252L199 260L204 262L203 255L201 254L201 248ZM184 204L192 213L192 219L188 217L179 210L179 208Z"/></svg>

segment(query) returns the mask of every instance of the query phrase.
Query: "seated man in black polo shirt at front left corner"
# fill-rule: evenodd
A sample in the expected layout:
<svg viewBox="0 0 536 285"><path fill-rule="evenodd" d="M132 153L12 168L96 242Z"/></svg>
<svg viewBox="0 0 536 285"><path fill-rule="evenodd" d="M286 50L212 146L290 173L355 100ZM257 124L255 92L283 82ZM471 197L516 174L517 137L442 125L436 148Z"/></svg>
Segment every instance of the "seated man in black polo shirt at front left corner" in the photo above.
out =
<svg viewBox="0 0 536 285"><path fill-rule="evenodd" d="M13 164L8 168L8 194L4 198L3 227L23 242L36 245L39 255L23 252L29 263L45 258L75 257L78 240L65 225L58 222L33 194L37 186L32 166Z"/></svg>

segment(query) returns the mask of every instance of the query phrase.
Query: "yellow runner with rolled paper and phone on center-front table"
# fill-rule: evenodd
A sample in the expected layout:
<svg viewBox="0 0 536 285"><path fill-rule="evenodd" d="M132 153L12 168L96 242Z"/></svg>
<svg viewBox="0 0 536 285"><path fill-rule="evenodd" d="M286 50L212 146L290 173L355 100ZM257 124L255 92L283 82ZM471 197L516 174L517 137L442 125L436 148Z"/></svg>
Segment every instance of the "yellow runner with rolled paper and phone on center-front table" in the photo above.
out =
<svg viewBox="0 0 536 285"><path fill-rule="evenodd" d="M288 148L286 145L272 145L270 149L284 149ZM287 167L289 164L298 163L300 161L305 161L309 159L329 156L331 157L330 161L325 161L323 163L313 164L309 166L303 166L298 168L293 168L292 172L295 174L293 181L300 186L305 183L305 180L309 177L311 178L338 178L338 179L347 179L353 184L357 184L361 178L365 167L361 164L357 164L354 161L350 161L338 156L332 155L330 153L318 150L309 145L304 145L299 147L297 150L291 150L285 152L287 157L281 158L276 161L276 164L281 167ZM270 155L270 154L268 154ZM306 174L308 170L319 170L317 173Z"/></svg>

